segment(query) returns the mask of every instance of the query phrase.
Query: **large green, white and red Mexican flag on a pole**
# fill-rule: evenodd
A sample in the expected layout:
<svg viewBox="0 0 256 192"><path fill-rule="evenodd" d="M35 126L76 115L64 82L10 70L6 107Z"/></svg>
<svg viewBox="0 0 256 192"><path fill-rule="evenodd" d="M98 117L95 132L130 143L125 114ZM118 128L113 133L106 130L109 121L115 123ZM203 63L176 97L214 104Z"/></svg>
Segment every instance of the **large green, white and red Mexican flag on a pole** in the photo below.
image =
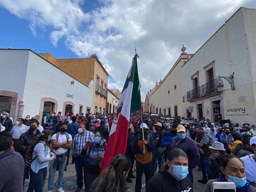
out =
<svg viewBox="0 0 256 192"><path fill-rule="evenodd" d="M140 81L137 67L137 57L132 59L132 66L127 75L124 88L117 105L104 160L100 172L102 172L118 154L125 154L130 114L142 108L140 98Z"/></svg>

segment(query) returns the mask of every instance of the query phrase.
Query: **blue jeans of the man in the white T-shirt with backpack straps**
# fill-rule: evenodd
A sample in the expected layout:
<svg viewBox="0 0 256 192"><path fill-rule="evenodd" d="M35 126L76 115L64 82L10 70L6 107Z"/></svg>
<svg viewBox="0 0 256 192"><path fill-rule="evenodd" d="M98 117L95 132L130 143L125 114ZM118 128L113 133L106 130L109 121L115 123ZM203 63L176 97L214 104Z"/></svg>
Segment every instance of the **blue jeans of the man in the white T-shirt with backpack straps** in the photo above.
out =
<svg viewBox="0 0 256 192"><path fill-rule="evenodd" d="M56 183L57 189L62 187L62 180L64 176L64 169L67 163L67 157L65 159L65 162L62 163L61 160L62 160L62 156L56 158L56 161L58 161L58 165L59 165L59 176L58 176L58 181ZM48 191L53 190L54 175L57 169L57 167L55 168L52 167L53 162L54 160L52 160L51 166L49 167Z"/></svg>

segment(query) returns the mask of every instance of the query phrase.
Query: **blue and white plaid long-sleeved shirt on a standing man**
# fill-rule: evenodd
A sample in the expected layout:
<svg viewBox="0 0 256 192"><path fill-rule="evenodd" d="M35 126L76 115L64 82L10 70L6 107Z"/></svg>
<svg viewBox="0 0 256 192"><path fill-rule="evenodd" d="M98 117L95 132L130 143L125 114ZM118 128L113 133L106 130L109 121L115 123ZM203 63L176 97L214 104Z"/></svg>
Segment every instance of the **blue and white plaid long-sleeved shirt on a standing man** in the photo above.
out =
<svg viewBox="0 0 256 192"><path fill-rule="evenodd" d="M83 136L81 136L80 133L76 134L72 142L71 155L76 154L80 156L84 144L87 143L87 141L94 141L93 132L85 131Z"/></svg>

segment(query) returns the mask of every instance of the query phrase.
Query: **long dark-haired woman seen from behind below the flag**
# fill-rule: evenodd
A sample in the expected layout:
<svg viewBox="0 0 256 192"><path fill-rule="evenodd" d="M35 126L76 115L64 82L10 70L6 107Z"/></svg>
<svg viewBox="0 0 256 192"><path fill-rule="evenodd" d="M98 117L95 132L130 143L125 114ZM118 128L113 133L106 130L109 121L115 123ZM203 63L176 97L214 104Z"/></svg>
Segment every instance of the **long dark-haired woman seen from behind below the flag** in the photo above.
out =
<svg viewBox="0 0 256 192"><path fill-rule="evenodd" d="M111 164L92 183L91 192L124 192L125 180L130 170L131 160L123 154L115 156Z"/></svg>

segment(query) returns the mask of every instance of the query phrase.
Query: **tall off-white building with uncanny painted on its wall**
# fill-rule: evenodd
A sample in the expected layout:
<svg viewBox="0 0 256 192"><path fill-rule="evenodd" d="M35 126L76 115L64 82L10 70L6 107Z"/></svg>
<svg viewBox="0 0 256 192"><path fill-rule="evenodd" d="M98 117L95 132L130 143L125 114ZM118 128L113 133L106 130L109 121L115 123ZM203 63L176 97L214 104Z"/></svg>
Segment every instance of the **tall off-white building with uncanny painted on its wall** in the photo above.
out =
<svg viewBox="0 0 256 192"><path fill-rule="evenodd" d="M255 21L255 9L240 8L182 66L184 115L191 106L197 119L255 124Z"/></svg>

